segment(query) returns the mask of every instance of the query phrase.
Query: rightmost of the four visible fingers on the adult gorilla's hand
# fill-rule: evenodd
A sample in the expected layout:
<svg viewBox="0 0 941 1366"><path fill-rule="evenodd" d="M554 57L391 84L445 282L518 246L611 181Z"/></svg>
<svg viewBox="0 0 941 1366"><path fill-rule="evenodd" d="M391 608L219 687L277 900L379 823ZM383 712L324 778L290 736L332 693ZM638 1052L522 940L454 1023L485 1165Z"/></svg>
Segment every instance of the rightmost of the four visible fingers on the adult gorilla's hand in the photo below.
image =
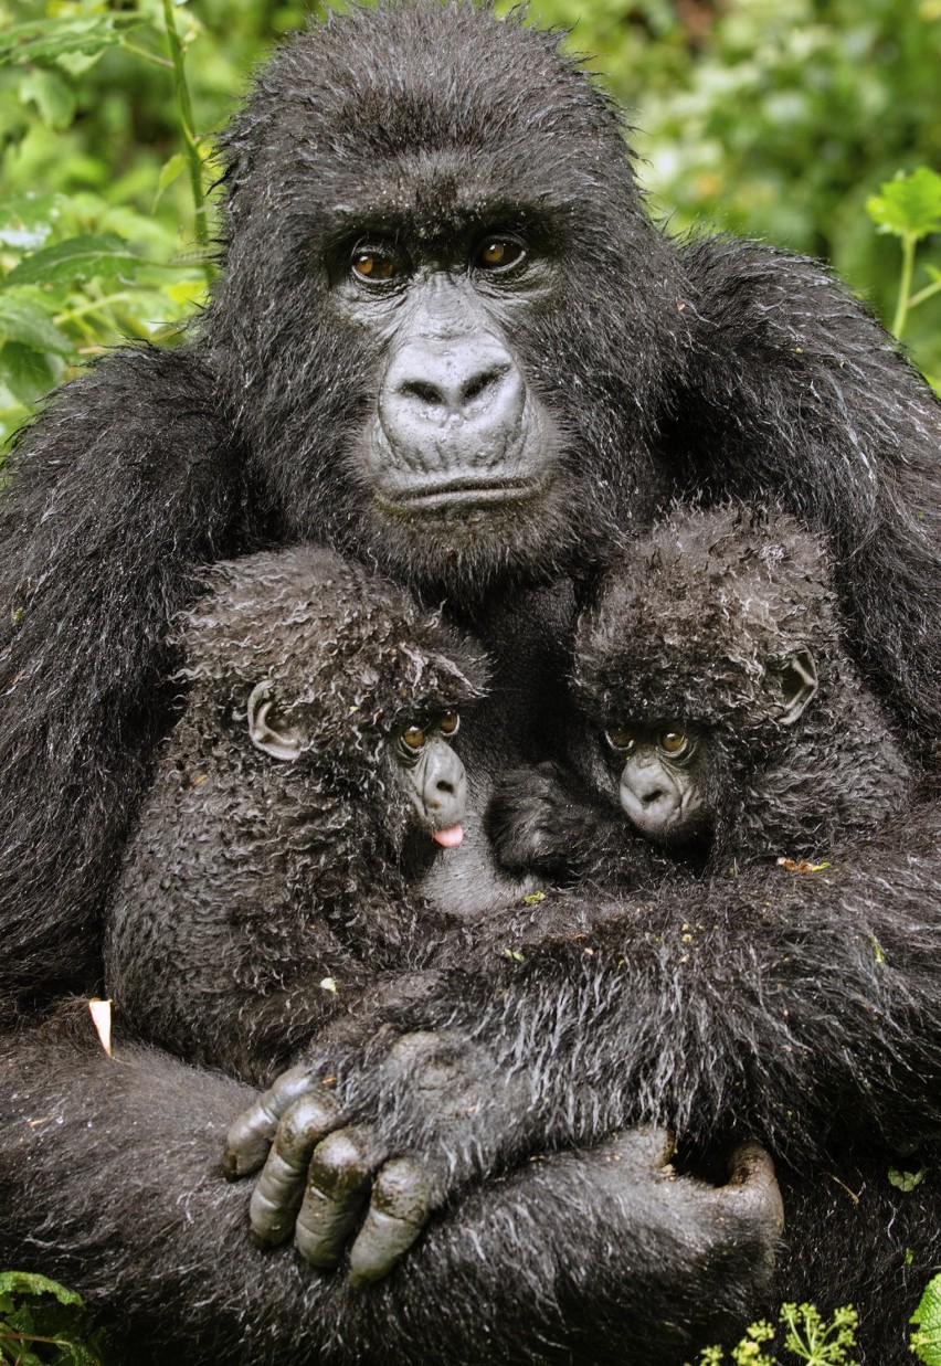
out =
<svg viewBox="0 0 941 1366"><path fill-rule="evenodd" d="M411 1157L393 1157L373 1184L366 1221L350 1253L350 1284L371 1285L392 1270L427 1223L429 1183Z"/></svg>

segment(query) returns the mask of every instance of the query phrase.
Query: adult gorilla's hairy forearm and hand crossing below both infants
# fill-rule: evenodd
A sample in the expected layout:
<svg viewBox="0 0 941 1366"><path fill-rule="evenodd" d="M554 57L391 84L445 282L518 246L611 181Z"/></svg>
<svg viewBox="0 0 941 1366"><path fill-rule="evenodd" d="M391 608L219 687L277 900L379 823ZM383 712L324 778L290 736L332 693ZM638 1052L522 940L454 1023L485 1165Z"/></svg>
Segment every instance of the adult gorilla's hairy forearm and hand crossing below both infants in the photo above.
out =
<svg viewBox="0 0 941 1366"><path fill-rule="evenodd" d="M587 915L591 933L534 949L520 938L520 963L503 956L505 940L492 941L496 970L452 975L436 1005L403 1012L366 1053L328 1049L311 1055L306 1081L285 1074L264 1112L255 1105L234 1126L229 1169L258 1164L283 1112L290 1130L298 1087L315 1094L324 1075L339 1075L339 1116L306 1152L295 1149L284 1187L284 1205L296 1209L310 1149L332 1130L314 1156L299 1243L310 1255L313 1225L313 1259L333 1265L356 1224L351 1182L362 1190L376 1176L373 1208L387 1212L389 1154L425 1162L425 1175L396 1191L406 1209L410 1199L434 1206L534 1150L597 1142L638 1121L694 1143L757 1134L811 1158L833 1131L886 1153L893 1141L931 1137L941 1124L936 831L934 809L911 818L907 862L890 882L881 863L897 829L832 870L755 869L665 887L643 906L600 907ZM354 1156L336 1142L350 1123ZM265 1197L284 1145L277 1131ZM392 1186L402 1171L393 1167ZM270 1225L258 1205L253 1216L262 1232ZM374 1255L369 1218L363 1233L354 1273ZM395 1255L388 1239L384 1270Z"/></svg>

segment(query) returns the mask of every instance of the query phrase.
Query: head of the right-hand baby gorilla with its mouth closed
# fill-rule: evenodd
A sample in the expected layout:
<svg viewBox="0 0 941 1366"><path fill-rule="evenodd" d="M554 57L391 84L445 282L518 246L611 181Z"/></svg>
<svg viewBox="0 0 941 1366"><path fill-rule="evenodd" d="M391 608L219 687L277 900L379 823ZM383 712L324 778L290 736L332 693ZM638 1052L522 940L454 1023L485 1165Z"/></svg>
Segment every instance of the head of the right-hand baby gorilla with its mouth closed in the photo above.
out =
<svg viewBox="0 0 941 1366"><path fill-rule="evenodd" d="M677 507L582 615L575 686L647 837L707 837L729 788L795 735L839 658L821 542L766 510Z"/></svg>

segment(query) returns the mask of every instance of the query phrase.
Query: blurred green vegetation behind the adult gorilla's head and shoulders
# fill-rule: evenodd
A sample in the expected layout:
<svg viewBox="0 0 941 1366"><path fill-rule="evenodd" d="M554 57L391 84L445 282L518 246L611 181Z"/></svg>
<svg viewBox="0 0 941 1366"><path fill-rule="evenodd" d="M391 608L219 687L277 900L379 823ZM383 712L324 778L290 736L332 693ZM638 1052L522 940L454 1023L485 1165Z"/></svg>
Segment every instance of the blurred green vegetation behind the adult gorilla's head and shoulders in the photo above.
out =
<svg viewBox="0 0 941 1366"><path fill-rule="evenodd" d="M0 0L0 436L85 358L171 340L199 306L212 134L268 46L318 12ZM668 231L705 221L832 261L941 374L941 0L533 0L531 14L571 29L630 109Z"/></svg>

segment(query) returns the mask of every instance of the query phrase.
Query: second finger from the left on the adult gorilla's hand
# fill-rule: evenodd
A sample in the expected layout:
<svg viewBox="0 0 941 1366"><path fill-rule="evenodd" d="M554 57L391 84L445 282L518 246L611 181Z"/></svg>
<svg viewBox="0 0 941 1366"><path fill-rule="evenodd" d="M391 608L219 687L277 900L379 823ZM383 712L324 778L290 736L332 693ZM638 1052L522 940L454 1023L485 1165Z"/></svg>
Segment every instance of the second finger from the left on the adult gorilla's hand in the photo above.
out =
<svg viewBox="0 0 941 1366"><path fill-rule="evenodd" d="M322 1091L302 1096L283 1116L249 1205L251 1232L259 1243L283 1243L294 1232L310 1154L340 1120L340 1106Z"/></svg>

